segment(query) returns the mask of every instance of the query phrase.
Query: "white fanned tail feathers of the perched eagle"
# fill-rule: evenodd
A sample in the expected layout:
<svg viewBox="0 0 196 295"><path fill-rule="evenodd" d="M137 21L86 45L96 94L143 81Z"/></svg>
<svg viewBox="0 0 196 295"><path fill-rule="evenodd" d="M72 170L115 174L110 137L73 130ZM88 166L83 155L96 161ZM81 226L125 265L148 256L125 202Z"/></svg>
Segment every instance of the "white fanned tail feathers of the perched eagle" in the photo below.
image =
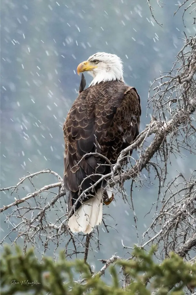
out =
<svg viewBox="0 0 196 295"><path fill-rule="evenodd" d="M68 221L72 232L89 234L96 225L102 222L102 189L98 189L94 198L84 202Z"/></svg>

